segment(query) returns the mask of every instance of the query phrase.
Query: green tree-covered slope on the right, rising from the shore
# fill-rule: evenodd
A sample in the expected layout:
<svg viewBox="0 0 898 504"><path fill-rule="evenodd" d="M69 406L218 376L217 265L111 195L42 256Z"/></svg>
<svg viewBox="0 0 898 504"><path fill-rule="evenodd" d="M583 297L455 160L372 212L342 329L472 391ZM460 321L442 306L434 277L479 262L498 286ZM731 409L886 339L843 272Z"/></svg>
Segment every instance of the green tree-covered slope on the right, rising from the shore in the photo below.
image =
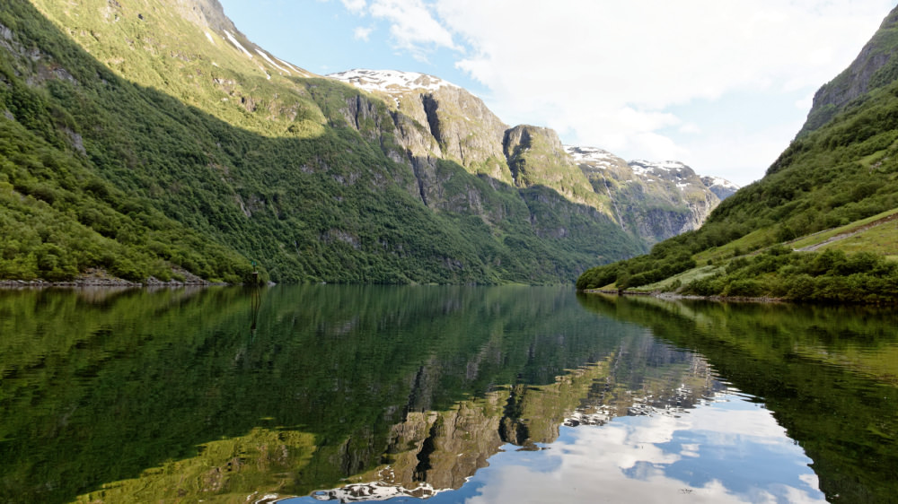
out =
<svg viewBox="0 0 898 504"><path fill-rule="evenodd" d="M876 33L877 51L898 50L898 39L882 42L895 18L893 11ZM875 75L882 74L869 78ZM868 87L829 122L800 135L764 178L722 202L700 230L669 239L648 256L592 268L578 287L613 283L700 295L898 300L898 264L889 258L894 252L884 254L887 248L877 245L894 242L894 232L868 232L861 247L845 249L849 254L792 246L806 235L898 208L898 82Z"/></svg>

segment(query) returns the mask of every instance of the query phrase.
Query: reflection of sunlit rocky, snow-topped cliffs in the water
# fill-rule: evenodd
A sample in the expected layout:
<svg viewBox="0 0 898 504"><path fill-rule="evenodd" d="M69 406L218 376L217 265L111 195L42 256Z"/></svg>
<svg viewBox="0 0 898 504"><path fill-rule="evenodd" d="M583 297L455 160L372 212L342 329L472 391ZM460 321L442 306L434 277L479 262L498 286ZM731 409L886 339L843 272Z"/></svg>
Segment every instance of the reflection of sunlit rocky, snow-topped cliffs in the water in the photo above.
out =
<svg viewBox="0 0 898 504"><path fill-rule="evenodd" d="M700 356L633 334L602 361L570 369L553 383L498 387L448 411L407 413L391 428L383 465L313 498L432 497L462 488L504 449L545 448L559 439L562 425L597 426L627 415L677 418L724 390Z"/></svg>

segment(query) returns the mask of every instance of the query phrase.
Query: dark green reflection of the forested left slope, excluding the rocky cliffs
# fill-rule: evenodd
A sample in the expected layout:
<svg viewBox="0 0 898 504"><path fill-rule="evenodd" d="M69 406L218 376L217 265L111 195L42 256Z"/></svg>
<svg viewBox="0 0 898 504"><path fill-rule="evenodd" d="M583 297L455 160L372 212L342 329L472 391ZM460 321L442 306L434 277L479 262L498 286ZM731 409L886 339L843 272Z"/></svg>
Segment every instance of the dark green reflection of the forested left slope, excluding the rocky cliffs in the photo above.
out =
<svg viewBox="0 0 898 504"><path fill-rule="evenodd" d="M0 291L0 501L331 488L405 412L613 352L591 318L566 288Z"/></svg>

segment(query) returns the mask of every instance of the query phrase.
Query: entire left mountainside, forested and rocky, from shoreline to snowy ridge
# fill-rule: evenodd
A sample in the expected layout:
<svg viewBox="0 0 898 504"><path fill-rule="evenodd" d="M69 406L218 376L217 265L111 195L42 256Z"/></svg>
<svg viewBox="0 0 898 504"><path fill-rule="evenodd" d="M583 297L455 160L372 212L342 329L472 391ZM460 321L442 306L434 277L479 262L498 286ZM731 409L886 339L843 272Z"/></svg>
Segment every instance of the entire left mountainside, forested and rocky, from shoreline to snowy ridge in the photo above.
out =
<svg viewBox="0 0 898 504"><path fill-rule="evenodd" d="M277 282L570 282L716 203L617 213L551 130L409 76L314 75L216 0L13 0L0 278L244 282L258 261Z"/></svg>

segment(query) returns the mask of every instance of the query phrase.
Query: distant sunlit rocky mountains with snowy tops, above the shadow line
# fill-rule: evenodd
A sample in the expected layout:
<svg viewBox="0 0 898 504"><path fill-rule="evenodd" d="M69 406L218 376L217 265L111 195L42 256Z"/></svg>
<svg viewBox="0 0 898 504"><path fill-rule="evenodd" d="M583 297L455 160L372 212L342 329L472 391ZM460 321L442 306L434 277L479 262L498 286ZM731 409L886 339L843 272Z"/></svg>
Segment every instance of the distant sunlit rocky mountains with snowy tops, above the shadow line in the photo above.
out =
<svg viewBox="0 0 898 504"><path fill-rule="evenodd" d="M643 163L638 175L633 175L632 169L622 174L615 169L609 171L609 163L626 162L608 152L601 154L599 149L564 146L558 134L548 128L508 127L469 91L432 75L357 69L327 77L383 97L397 112L429 126L429 137L403 138L416 169L426 166L426 159L442 157L459 162L471 173L515 187L550 187L569 201L607 215L622 230L649 245L699 228L720 199L714 189L706 187L682 164L678 165L679 178L676 171L668 174L664 164L655 166L647 161L634 161ZM614 160L606 162L606 158ZM647 177L653 169L658 172L655 179ZM621 186L634 177L637 184ZM652 180L659 183L652 184ZM733 184L719 180L717 191L721 194L728 196L735 191Z"/></svg>

